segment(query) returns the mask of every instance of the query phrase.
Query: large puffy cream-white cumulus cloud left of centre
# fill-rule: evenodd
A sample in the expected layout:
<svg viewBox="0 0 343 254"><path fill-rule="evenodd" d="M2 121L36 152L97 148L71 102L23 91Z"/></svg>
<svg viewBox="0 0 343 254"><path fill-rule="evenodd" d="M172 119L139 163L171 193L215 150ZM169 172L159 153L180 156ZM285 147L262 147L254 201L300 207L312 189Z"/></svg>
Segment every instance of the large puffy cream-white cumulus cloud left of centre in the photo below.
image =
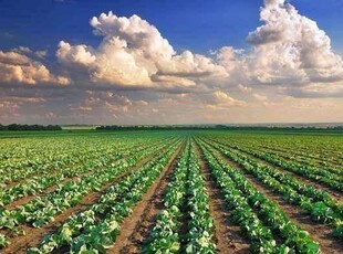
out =
<svg viewBox="0 0 343 254"><path fill-rule="evenodd" d="M113 85L194 86L197 81L227 76L225 67L190 51L177 54L159 31L138 15L112 12L94 17L94 34L103 36L96 49L60 42L58 59L86 68L91 81Z"/></svg>

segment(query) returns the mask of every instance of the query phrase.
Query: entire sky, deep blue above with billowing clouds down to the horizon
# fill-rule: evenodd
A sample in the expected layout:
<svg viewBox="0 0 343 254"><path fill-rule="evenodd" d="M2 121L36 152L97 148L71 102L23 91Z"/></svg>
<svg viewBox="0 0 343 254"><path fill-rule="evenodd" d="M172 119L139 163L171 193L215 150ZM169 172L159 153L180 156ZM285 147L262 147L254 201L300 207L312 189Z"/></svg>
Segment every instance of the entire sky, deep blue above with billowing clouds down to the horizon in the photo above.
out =
<svg viewBox="0 0 343 254"><path fill-rule="evenodd" d="M0 0L0 124L343 121L340 0Z"/></svg>

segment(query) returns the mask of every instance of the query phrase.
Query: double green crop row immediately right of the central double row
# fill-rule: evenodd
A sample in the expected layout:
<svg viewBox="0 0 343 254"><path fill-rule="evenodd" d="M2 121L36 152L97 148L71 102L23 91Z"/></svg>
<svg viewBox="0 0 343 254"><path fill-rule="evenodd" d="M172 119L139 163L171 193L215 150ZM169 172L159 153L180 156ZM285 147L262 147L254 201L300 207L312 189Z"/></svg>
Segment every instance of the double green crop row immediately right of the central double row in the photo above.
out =
<svg viewBox="0 0 343 254"><path fill-rule="evenodd" d="M319 244L261 192L247 178L205 148L209 168L217 184L224 192L232 220L240 226L242 235L251 243L253 253L318 253ZM282 237L277 245L274 235Z"/></svg>

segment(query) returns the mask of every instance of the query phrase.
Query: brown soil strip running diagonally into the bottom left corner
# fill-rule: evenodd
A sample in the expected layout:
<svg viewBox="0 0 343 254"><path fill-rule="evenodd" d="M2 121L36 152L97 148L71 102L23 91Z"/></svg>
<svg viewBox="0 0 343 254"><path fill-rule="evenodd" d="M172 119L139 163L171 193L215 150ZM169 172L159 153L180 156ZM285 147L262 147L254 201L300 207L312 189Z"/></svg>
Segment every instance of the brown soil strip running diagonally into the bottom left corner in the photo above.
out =
<svg viewBox="0 0 343 254"><path fill-rule="evenodd" d="M29 225L22 225L20 226L21 230L25 231L25 235L22 236L14 236L12 239L10 239L11 244L1 250L1 253L3 254L17 254L17 253L25 253L25 251L29 247L32 246L37 246L40 241L42 240L42 237L46 234L53 233L55 232L60 225L63 224L63 222L71 215L76 214L79 212L85 211L90 205L92 205L93 203L96 203L98 201L98 199L101 198L101 195L104 193L104 191L111 187L114 186L116 183L118 183L119 181L122 181L126 176L128 176L131 172L137 170L138 168L141 168L143 165L147 163L149 160L152 160L157 154L154 152L152 156L147 157L146 159L139 161L135 167L131 168L129 170L123 172L122 174L119 174L114 181L112 181L111 183L107 183L106 186L104 186L100 191L94 191L91 192L89 194L86 194L85 197L83 197L82 201L80 204L77 204L74 208L70 208L67 210L65 210L63 213L56 215L54 219L54 221L52 223L49 223L48 225L43 226L43 227L32 227Z"/></svg>

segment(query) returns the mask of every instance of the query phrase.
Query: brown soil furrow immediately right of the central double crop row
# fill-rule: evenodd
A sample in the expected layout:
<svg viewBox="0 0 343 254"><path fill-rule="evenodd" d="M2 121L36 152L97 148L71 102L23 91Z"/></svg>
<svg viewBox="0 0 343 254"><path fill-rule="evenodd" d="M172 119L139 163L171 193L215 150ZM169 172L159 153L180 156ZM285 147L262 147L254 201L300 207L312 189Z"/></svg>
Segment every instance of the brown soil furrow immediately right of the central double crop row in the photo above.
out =
<svg viewBox="0 0 343 254"><path fill-rule="evenodd" d="M209 195L209 212L215 223L216 245L219 253L250 253L250 243L240 235L239 226L230 222L230 212L226 207L220 189L217 187L208 169L202 151L197 147L200 158L205 187Z"/></svg>

